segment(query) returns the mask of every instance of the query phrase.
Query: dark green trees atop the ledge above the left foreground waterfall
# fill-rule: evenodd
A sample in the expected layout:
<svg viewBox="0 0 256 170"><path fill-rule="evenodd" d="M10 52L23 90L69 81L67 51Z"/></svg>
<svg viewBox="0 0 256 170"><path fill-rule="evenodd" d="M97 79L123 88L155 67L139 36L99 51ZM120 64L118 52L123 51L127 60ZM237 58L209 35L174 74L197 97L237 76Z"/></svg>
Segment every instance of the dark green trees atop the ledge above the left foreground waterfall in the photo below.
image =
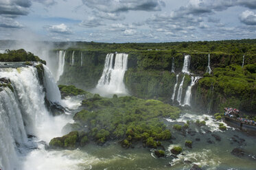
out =
<svg viewBox="0 0 256 170"><path fill-rule="evenodd" d="M34 56L33 53L24 49L7 50L6 53L0 53L0 62L25 62L25 64L30 65L31 63L28 61L46 64L44 60L40 60L38 56Z"/></svg>

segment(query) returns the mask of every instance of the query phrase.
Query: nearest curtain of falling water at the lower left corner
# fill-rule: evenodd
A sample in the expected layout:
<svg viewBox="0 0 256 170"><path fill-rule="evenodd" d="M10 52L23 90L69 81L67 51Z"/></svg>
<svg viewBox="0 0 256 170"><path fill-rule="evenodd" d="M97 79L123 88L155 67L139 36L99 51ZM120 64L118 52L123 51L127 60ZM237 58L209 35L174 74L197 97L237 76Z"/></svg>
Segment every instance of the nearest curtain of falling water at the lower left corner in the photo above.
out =
<svg viewBox="0 0 256 170"><path fill-rule="evenodd" d="M0 92L0 129L0 169L19 169L17 149L27 145L27 134L18 101L9 88Z"/></svg>

